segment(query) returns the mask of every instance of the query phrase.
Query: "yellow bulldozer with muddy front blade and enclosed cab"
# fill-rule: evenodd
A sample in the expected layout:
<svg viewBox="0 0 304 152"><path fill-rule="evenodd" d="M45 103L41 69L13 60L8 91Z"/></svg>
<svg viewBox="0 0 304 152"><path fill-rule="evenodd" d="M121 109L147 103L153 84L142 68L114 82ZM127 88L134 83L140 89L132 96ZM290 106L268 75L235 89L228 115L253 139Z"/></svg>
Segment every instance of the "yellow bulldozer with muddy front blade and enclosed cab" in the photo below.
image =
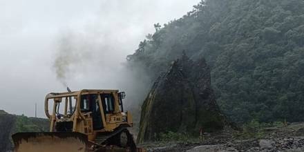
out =
<svg viewBox="0 0 304 152"><path fill-rule="evenodd" d="M137 148L127 127L132 115L124 112L124 92L82 90L49 93L45 113L50 132L12 135L15 152L145 151ZM49 109L52 113L49 113Z"/></svg>

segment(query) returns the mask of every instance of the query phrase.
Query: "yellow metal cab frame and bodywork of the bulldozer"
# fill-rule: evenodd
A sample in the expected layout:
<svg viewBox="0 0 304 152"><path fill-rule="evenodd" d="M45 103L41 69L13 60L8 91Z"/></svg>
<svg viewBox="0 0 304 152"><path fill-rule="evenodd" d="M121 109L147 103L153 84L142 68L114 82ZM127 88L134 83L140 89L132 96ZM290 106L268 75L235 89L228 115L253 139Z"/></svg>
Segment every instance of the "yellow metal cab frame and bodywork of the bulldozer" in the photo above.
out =
<svg viewBox="0 0 304 152"><path fill-rule="evenodd" d="M109 113L104 115L104 108L102 104L102 98L100 97L100 94L107 93L112 94L114 97L114 111L113 113ZM98 102L99 102L99 110L101 111L102 115L102 124L104 124L104 129L93 131L93 120L90 113L82 113L80 110L80 102L79 99L81 95L88 95L88 94L97 94L98 95ZM73 115L68 115L68 97L75 97L76 103L75 103L75 111ZM75 91L75 92L66 92L66 93L49 93L46 95L45 98L45 113L46 117L50 120L50 132L54 132L54 126L55 123L59 121L59 119L56 117L56 103L62 102L62 99L64 98L64 121L70 121L73 122L73 132L79 132L84 133L88 135L88 140L94 140L97 133L99 132L111 132L120 125L126 125L126 126L133 126L133 120L132 115L128 111L122 112L120 111L120 99L118 97L118 90L88 90L84 89L81 91ZM48 102L50 99L54 99L53 104L53 113L50 115L48 111ZM123 117L127 120L127 122L123 122ZM90 131L88 131L88 128ZM86 131L85 131L86 129Z"/></svg>

